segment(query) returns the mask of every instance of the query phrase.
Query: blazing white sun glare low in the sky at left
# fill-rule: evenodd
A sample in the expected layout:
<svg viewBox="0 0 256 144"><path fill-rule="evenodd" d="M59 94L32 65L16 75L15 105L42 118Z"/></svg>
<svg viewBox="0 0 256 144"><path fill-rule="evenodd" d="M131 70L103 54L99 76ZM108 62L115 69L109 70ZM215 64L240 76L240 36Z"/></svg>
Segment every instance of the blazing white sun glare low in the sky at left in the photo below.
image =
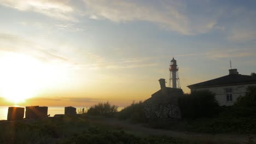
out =
<svg viewBox="0 0 256 144"><path fill-rule="evenodd" d="M65 63L44 62L24 53L4 52L0 55L0 97L14 104L25 102L45 89L65 85L63 80L68 77L68 69Z"/></svg>

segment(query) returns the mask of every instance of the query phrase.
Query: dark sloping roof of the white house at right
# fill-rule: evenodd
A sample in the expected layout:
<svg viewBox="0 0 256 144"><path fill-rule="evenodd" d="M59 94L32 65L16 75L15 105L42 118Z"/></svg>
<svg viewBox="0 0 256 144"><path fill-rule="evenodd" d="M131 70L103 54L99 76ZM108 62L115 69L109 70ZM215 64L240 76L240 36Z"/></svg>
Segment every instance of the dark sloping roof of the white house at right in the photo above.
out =
<svg viewBox="0 0 256 144"><path fill-rule="evenodd" d="M256 83L255 76L241 75L241 74L229 74L219 77L217 79L196 83L189 85L191 88L205 88L205 87L218 87L218 86L230 86L230 85L245 85Z"/></svg>

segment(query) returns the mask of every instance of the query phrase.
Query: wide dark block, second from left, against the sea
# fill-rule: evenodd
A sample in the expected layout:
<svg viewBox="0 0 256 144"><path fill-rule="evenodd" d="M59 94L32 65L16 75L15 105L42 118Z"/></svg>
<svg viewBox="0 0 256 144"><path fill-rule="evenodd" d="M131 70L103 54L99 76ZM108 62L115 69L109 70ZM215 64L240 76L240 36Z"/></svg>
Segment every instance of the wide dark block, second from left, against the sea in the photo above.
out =
<svg viewBox="0 0 256 144"><path fill-rule="evenodd" d="M25 117L26 118L45 118L48 117L47 106L26 106Z"/></svg>

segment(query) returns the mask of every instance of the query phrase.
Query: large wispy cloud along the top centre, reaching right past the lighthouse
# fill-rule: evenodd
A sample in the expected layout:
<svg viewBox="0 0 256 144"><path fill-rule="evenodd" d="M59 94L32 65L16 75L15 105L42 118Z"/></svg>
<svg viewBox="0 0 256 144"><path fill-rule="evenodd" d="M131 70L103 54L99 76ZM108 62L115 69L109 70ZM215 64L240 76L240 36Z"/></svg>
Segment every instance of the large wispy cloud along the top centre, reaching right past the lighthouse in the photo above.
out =
<svg viewBox="0 0 256 144"><path fill-rule="evenodd" d="M216 25L217 18L203 15L190 16L187 5L181 1L84 0L85 14L91 19L114 22L148 21L185 35L206 33ZM213 15L214 13L212 13Z"/></svg>

